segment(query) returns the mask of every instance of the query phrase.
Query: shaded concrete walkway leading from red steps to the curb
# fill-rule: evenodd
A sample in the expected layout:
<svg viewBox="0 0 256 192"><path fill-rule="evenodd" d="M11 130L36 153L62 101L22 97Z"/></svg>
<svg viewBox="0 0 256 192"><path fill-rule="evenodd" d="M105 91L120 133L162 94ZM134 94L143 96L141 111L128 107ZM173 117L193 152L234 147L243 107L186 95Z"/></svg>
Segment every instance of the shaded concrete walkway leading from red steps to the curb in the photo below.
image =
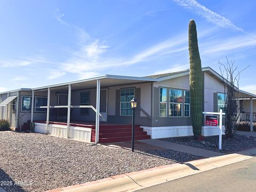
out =
<svg viewBox="0 0 256 192"><path fill-rule="evenodd" d="M161 141L158 139L145 139L145 140L139 140L139 141L143 142L143 143L147 143L148 145L162 147L165 149L172 149L172 150L180 151L183 153L198 155L198 156L202 156L202 157L215 157L215 156L224 155L222 153L218 153L218 152L214 152L214 151L210 151L210 150L180 145L180 144L168 142L168 141Z"/></svg>

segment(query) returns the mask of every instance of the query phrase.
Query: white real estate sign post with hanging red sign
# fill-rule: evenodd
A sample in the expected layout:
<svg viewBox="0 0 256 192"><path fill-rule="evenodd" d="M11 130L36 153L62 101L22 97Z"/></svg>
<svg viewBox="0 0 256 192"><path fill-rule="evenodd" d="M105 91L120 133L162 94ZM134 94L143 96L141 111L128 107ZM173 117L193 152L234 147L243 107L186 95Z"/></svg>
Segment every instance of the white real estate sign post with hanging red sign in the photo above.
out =
<svg viewBox="0 0 256 192"><path fill-rule="evenodd" d="M220 115L220 123L219 123L219 149L221 150L221 142L222 142L222 116L225 115L225 113L222 112L222 109L220 109L220 112L203 112L203 114L209 114L205 116L205 125L210 126L218 126L218 116L213 115Z"/></svg>

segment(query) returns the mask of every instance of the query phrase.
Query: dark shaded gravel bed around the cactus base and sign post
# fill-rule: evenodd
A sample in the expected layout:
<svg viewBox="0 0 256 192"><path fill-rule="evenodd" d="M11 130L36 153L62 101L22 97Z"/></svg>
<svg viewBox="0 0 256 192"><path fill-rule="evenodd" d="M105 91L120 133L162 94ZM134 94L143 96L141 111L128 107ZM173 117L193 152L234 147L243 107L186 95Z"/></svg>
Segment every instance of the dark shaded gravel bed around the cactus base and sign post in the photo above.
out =
<svg viewBox="0 0 256 192"><path fill-rule="evenodd" d="M230 140L226 139L225 135L222 135L222 150L218 149L219 136L205 137L204 141L197 141L193 139L193 137L164 138L160 140L174 142L180 145L196 147L200 149L217 151L220 153L229 153L231 151L256 147L255 137L238 135L238 134L235 135L235 137Z"/></svg>

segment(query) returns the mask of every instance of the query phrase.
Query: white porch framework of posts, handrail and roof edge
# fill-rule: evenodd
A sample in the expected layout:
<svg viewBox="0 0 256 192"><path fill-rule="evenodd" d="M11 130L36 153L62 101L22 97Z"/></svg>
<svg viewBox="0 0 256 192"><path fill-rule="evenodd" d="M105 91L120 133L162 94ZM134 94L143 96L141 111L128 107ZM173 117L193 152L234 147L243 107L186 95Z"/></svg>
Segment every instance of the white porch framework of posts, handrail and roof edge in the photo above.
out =
<svg viewBox="0 0 256 192"><path fill-rule="evenodd" d="M146 82L157 82L157 79L145 78L145 77L129 77L129 76L116 76L116 75L103 75L100 77L84 79L81 81L62 83L57 85L50 85L44 87L38 87L32 89L32 103L34 103L34 95L36 91L47 91L47 106L41 106L38 108L46 108L46 133L49 131L49 119L50 119L50 109L51 108L67 108L67 133L66 137L69 138L69 125L70 125L70 109L71 108L91 108L95 111L95 142L99 141L99 122L100 122L100 90L108 89L110 86L119 85L131 85ZM96 108L91 105L71 105L71 91L84 90L84 89L95 89L96 88ZM68 105L66 106L51 106L50 105L50 95L52 90L68 90ZM31 110L31 122L33 122L33 110Z"/></svg>

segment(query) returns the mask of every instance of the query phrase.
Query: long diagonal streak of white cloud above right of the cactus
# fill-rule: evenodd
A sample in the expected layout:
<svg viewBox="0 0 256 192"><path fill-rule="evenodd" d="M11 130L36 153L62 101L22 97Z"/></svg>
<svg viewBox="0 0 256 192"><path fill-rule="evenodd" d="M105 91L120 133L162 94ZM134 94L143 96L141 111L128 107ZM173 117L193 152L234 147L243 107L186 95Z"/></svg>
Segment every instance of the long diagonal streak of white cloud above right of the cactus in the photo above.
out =
<svg viewBox="0 0 256 192"><path fill-rule="evenodd" d="M228 20L227 18L219 15L218 13L213 12L212 10L206 8L204 5L198 3L195 0L173 0L177 4L186 9L191 10L197 15L200 15L207 21L214 23L223 28L228 28L235 31L242 31L245 32L244 29L237 27L233 22Z"/></svg>

